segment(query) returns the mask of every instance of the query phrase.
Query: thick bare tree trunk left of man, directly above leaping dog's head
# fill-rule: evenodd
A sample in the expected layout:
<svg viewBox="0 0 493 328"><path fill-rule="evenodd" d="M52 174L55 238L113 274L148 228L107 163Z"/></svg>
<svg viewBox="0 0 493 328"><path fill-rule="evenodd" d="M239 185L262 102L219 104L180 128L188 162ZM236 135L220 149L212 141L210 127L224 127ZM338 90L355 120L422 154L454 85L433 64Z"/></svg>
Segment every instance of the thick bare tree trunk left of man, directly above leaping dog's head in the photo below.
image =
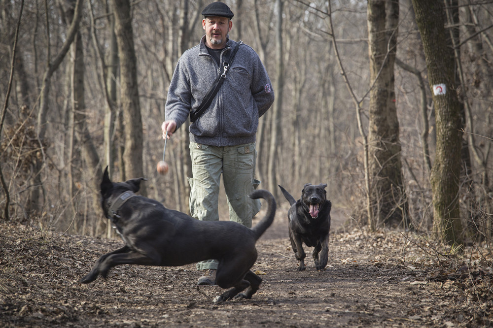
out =
<svg viewBox="0 0 493 328"><path fill-rule="evenodd" d="M115 15L115 34L120 59L120 101L122 106L125 149L124 180L143 176L142 168L142 118L137 81L137 57L135 56L134 33L130 15L130 0L111 0ZM140 193L146 195L145 184Z"/></svg>

